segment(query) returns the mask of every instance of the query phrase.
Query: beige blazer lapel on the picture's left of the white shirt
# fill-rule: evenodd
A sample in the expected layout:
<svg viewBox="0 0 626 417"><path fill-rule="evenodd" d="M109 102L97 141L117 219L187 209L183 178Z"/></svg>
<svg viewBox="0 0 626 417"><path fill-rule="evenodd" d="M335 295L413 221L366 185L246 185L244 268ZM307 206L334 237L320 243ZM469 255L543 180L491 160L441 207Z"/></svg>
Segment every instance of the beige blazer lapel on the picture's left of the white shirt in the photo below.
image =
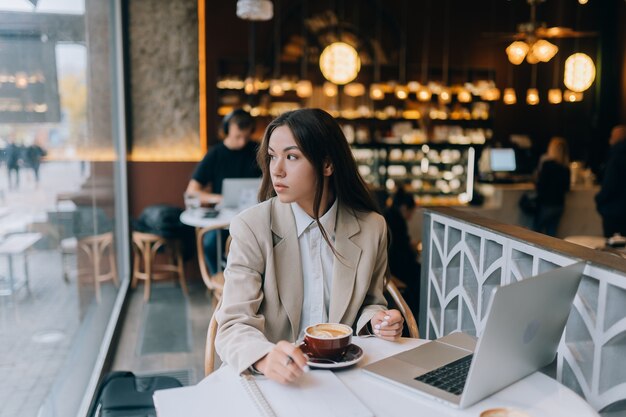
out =
<svg viewBox="0 0 626 417"><path fill-rule="evenodd" d="M278 199L272 202L272 233L274 240L274 267L280 302L291 323L292 336L298 337L300 316L304 298L300 246L296 234L296 223L289 204Z"/></svg>

